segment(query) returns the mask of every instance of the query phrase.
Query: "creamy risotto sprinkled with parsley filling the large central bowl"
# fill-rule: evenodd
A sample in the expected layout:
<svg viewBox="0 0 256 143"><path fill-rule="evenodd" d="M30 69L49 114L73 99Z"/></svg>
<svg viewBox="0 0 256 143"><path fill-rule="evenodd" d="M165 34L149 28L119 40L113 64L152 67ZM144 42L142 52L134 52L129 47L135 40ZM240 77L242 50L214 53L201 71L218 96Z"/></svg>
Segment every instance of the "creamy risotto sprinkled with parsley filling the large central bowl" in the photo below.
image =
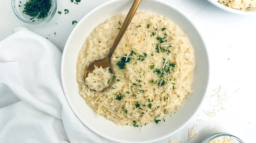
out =
<svg viewBox="0 0 256 143"><path fill-rule="evenodd" d="M77 59L79 93L97 114L117 125L164 122L192 92L195 66L188 37L166 17L135 13L111 57L115 83L104 92L85 84L85 70L107 56L125 17L107 19L87 37Z"/></svg>

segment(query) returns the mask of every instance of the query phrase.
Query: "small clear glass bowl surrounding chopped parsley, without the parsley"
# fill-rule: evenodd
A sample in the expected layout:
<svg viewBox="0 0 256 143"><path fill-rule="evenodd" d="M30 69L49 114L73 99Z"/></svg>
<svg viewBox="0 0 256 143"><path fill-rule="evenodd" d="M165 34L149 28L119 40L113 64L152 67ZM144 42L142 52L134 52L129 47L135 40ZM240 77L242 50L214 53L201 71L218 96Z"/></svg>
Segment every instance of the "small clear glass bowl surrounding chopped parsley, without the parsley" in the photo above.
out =
<svg viewBox="0 0 256 143"><path fill-rule="evenodd" d="M48 21L50 21L54 14L56 13L57 9L57 0L52 0L52 7L50 8L50 11L48 13L48 16L37 20L36 18L34 19L34 22L30 19L31 17L24 14L22 11L24 10L24 4L26 3L27 0L11 0L11 7L15 15L23 22L27 24L45 24Z"/></svg>

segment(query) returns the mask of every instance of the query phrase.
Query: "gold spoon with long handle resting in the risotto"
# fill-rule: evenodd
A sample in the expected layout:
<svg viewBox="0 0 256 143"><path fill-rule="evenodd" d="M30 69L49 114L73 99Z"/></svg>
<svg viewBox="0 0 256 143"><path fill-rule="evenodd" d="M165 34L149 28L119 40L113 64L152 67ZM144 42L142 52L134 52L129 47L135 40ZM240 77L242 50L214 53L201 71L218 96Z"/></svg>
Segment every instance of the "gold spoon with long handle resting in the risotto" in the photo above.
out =
<svg viewBox="0 0 256 143"><path fill-rule="evenodd" d="M110 61L110 58L111 56L113 55L114 51L116 50L117 48L117 45L119 44L120 40L122 39L123 35L124 35L124 32L126 31L127 27L129 26L129 24L131 23L132 21L132 18L137 10L137 8L139 7L139 4L140 4L141 0L135 0L130 11L128 12L124 22L123 22L123 25L121 26L121 29L119 31L119 33L117 34L117 38L116 40L114 41L114 44L112 45L112 47L110 48L110 51L108 53L108 56L102 60L96 60L94 61L93 63L91 63L87 70L85 71L85 74L84 74L84 77L86 78L88 76L88 73L89 72L92 72L94 70L94 65L97 66L97 67L102 67L102 68L107 68L107 67L110 67L109 69L111 70L111 73L114 74L114 70L113 70L113 67L112 67L112 64L111 64L111 61ZM113 81L115 79L112 80L111 84L113 84ZM103 89L104 90L104 89Z"/></svg>

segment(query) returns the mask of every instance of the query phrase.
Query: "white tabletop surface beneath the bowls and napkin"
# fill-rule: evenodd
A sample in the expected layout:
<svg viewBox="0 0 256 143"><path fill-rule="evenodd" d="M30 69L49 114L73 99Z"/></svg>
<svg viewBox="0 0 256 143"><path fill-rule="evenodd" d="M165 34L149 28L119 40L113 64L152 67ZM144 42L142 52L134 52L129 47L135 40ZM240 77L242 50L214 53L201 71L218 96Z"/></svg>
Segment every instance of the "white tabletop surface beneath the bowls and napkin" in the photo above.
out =
<svg viewBox="0 0 256 143"><path fill-rule="evenodd" d="M61 51L74 28L72 21L79 21L86 13L108 0L82 0L79 5L69 0L58 0L59 11L69 9L69 14L55 14L44 25L28 25L19 21L11 9L10 1L1 1L0 40L13 33L13 28L24 26L48 38ZM185 143L201 143L208 135L227 132L241 138L245 143L254 140L256 133L256 16L237 15L211 5L206 0L166 0L180 8L190 17L205 40L209 63L210 79L204 101L198 116L181 131L171 136L174 140ZM56 32L56 35L53 33ZM50 36L49 36L50 35ZM56 37L55 37L56 36ZM227 99L223 103L226 110L220 110L214 118L208 117L202 110L208 110L217 101L219 94L226 91ZM242 87L242 88L241 88ZM239 89L241 88L241 89ZM235 90L239 89L234 93ZM211 106L210 106L211 102ZM197 121L203 119L203 121ZM188 139L188 128L197 124L198 135ZM158 143L167 143L164 139Z"/></svg>

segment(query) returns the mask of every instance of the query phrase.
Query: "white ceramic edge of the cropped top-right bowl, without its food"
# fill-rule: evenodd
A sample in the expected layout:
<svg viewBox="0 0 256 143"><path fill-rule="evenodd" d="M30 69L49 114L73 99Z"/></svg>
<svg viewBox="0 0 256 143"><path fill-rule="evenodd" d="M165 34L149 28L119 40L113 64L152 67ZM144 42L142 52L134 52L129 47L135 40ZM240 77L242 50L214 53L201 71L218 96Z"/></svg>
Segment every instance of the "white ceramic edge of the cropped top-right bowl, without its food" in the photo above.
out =
<svg viewBox="0 0 256 143"><path fill-rule="evenodd" d="M207 0L207 1L212 3L213 5L215 5L218 8L221 8L223 10L226 10L226 11L229 11L229 12L232 12L232 13L243 14L243 15L256 15L256 10L244 11L244 10L229 8L225 5L217 2L217 0Z"/></svg>

